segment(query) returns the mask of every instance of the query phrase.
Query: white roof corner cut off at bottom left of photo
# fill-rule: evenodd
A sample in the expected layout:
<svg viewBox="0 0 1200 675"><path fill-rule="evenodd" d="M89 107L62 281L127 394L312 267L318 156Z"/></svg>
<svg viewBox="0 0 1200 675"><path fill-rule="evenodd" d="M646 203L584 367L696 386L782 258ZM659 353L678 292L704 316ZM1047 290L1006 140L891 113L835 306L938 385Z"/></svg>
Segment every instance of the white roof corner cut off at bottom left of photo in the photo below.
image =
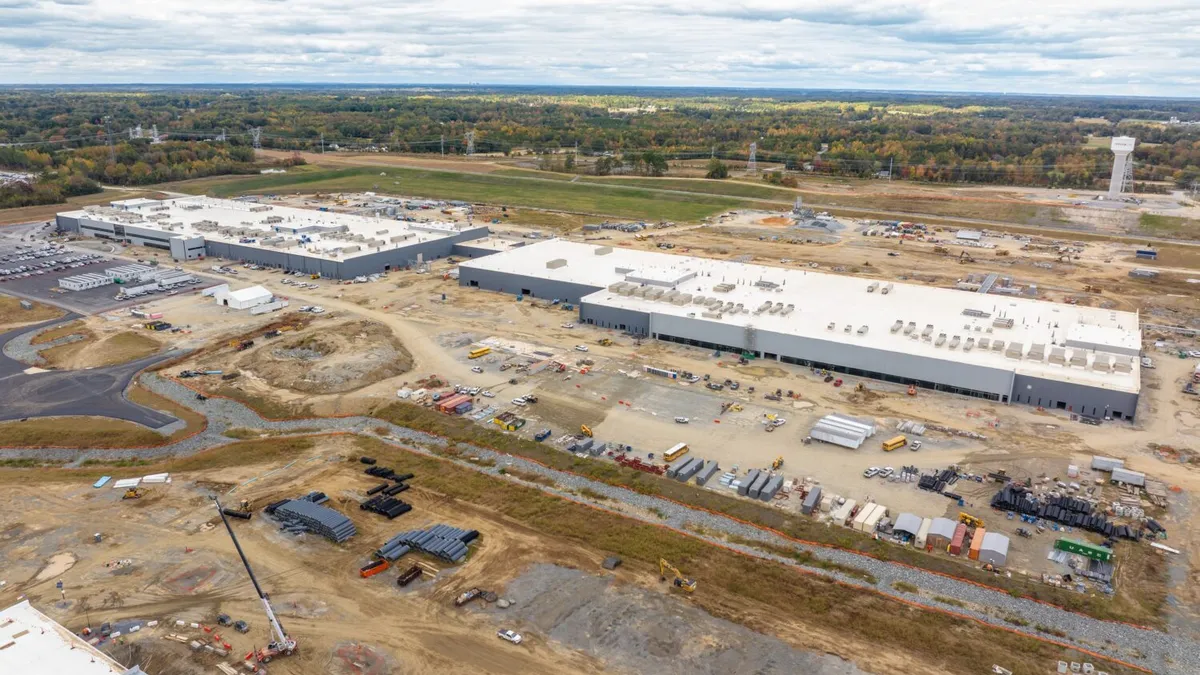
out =
<svg viewBox="0 0 1200 675"><path fill-rule="evenodd" d="M137 675L89 645L29 601L0 610L0 673L20 675Z"/></svg>

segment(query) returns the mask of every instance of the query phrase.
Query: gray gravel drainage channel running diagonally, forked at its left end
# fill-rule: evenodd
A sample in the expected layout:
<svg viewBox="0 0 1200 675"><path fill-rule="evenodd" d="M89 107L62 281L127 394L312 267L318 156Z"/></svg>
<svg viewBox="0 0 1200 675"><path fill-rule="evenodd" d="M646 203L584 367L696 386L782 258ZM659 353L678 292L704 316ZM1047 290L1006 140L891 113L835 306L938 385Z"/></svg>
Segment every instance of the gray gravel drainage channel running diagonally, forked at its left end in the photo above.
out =
<svg viewBox="0 0 1200 675"><path fill-rule="evenodd" d="M184 440L179 443L172 446L164 446L162 448L150 448L150 449L128 449L128 450L44 450L44 449L8 449L0 450L0 458L37 458L47 459L54 461L64 461L78 464L89 458L101 458L114 459L114 458L143 458L154 459L168 455L188 455L202 449L206 449L218 444L226 444L229 442L228 437L222 436L222 432L229 428L247 428L247 429L264 429L275 431L288 431L295 429L311 429L320 428L324 431L353 431L364 435L374 436L374 429L378 426L385 426L389 429L389 434L384 440L401 444L410 450L432 455L430 448L444 447L445 441L439 437L424 434L421 431L415 431L412 429L406 429L396 426L382 420L377 420L370 417L350 417L350 418L319 418L319 419L304 419L304 420L289 420L289 422L266 422L258 417L253 411L246 406L230 401L227 399L210 399L208 401L197 401L196 394L191 389L180 386L170 380L164 380L155 374L145 374L142 376L142 382L152 392L167 396L174 401L178 401L185 406L192 407L198 412L205 414L209 418L208 429L197 436ZM463 447L463 446L460 446ZM685 531L686 534L704 538L712 542L721 543L722 545L731 545L724 539L718 539L714 537L706 537L696 534L695 527L703 528L706 532L721 533L724 536L738 537L750 542L761 542L764 544L773 544L778 546L792 546L798 550L810 550L816 557L842 563L857 569L874 575L877 581L871 584L863 579L841 574L836 571L828 571L818 567L806 567L797 563L794 560L785 558L782 556L756 549L749 545L733 544L737 548L749 555L781 562L784 565L790 565L794 567L802 567L809 572L816 574L822 574L827 577L833 577L845 584L872 589L882 593L887 593L898 598L904 598L907 602L917 602L928 607L944 609L954 611L961 615L971 616L1007 629L1015 629L1030 635L1046 638L1044 633L1039 633L1034 629L1036 626L1044 626L1051 629L1062 631L1068 638L1052 638L1058 639L1064 643L1073 644L1075 646L1087 649L1091 651L1105 653L1115 658L1135 663L1146 668L1152 669L1154 673L1170 673L1170 674L1195 674L1200 673L1200 650L1198 650L1196 643L1175 634L1168 634L1158 631L1142 629L1133 626L1115 623L1110 621L1100 621L1084 616L1081 614L1075 614L1057 609L1051 605L1038 603L1034 601L1014 598L1008 593L989 590L985 587L977 586L974 584L959 581L952 578L942 577L940 574L934 574L931 572L924 572L916 568L910 568L901 565L894 565L889 562L883 562L868 557L864 555L853 554L850 551L842 551L838 549L827 549L821 546L809 546L803 544L797 544L790 539L785 539L773 532L762 530L751 525L745 525L725 518L721 515L710 514L703 510L692 509L674 502L658 498L649 495L641 495L624 488L617 488L608 485L606 483L599 483L583 478L580 476L565 473L562 471L556 471L541 466L540 464L512 456L503 453L497 453L485 448L478 448L467 446L470 448L473 455L480 458L491 459L496 461L494 466L479 466L473 462L463 460L451 460L456 461L461 466L469 467L474 471L480 471L484 473L490 473L493 476L499 474L499 470L504 467L515 467L521 471L533 472L541 476L546 476L553 479L554 484L551 486L545 485L533 485L542 489L547 492L552 492L565 498L588 503L599 508L611 508L606 506L605 502L594 502L588 498L581 497L577 491L584 488L593 490L608 500L617 502L623 502L637 507L630 509L629 512L623 512L623 515L629 518L636 518L648 522L656 522L662 525L668 525L680 531ZM511 479L511 477L509 477ZM661 514L661 520L658 519L655 514ZM691 528L689 528L691 527ZM912 584L920 589L920 595L905 593L896 591L893 584L898 581L905 581ZM947 598L954 598L967 603L973 607L990 608L996 610L997 615L984 614L980 611L974 611L971 609L962 609L959 607L950 607L932 599L934 596L942 596ZM1026 627L1014 626L1012 622L1004 621L1003 617L1021 617L1028 622ZM1048 664L1048 668L1052 668L1054 664ZM1103 668L1102 668L1103 669Z"/></svg>

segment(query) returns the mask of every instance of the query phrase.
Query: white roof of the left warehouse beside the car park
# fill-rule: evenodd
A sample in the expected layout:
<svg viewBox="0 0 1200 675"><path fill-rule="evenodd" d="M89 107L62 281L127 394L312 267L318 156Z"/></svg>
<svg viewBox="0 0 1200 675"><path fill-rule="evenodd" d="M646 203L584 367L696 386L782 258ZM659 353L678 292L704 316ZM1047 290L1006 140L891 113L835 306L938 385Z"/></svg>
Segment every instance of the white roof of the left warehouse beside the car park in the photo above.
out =
<svg viewBox="0 0 1200 675"><path fill-rule="evenodd" d="M408 222L211 197L125 199L112 204L60 215L330 259L433 241L482 227L444 221ZM359 249L352 250L355 246Z"/></svg>

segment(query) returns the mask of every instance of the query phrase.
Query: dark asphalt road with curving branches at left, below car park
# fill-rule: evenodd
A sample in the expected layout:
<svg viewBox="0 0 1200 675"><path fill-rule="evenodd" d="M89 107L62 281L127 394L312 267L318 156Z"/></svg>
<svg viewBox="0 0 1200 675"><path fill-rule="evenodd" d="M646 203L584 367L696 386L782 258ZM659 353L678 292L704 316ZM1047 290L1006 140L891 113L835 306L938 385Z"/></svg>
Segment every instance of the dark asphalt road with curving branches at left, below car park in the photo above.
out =
<svg viewBox="0 0 1200 675"><path fill-rule="evenodd" d="M169 414L139 406L125 398L130 382L142 370L179 356L180 351L154 354L136 362L89 370L25 372L28 365L4 354L4 346L26 333L79 318L60 319L17 328L0 334L0 420L26 417L96 416L162 429L178 422Z"/></svg>

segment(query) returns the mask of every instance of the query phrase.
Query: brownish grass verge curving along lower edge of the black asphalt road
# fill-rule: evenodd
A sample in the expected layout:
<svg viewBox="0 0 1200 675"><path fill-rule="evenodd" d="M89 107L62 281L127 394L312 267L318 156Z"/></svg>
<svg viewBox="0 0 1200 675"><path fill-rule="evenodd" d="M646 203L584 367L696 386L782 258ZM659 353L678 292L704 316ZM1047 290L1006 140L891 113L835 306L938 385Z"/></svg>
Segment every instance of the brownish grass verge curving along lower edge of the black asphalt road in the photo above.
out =
<svg viewBox="0 0 1200 675"><path fill-rule="evenodd" d="M204 426L204 417L143 387L130 389L127 398L142 406L173 414L186 426L170 436L151 429L102 417L35 418L0 423L0 447L5 448L137 448L174 443Z"/></svg>

